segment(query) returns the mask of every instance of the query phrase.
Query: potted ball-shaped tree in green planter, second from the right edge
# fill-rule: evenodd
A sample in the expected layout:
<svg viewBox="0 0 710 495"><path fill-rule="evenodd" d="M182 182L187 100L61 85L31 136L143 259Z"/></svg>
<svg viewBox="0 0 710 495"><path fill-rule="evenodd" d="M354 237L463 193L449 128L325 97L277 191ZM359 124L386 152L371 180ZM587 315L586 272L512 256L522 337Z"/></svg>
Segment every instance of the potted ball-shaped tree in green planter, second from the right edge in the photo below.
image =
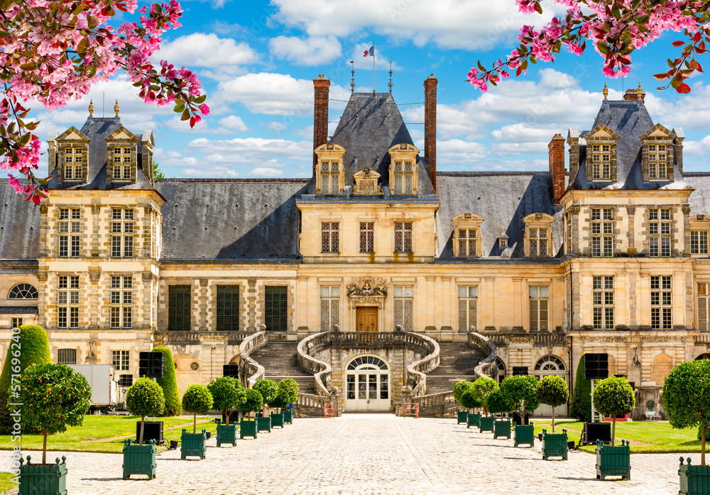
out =
<svg viewBox="0 0 710 495"><path fill-rule="evenodd" d="M616 416L625 416L636 404L633 389L626 378L608 377L594 387L592 400L596 411L604 416L613 417L611 445L602 445L599 440L596 440L596 479L605 479L610 475L630 479L631 450L628 441L624 443L624 440L621 440L621 445L614 445L614 440Z"/></svg>

